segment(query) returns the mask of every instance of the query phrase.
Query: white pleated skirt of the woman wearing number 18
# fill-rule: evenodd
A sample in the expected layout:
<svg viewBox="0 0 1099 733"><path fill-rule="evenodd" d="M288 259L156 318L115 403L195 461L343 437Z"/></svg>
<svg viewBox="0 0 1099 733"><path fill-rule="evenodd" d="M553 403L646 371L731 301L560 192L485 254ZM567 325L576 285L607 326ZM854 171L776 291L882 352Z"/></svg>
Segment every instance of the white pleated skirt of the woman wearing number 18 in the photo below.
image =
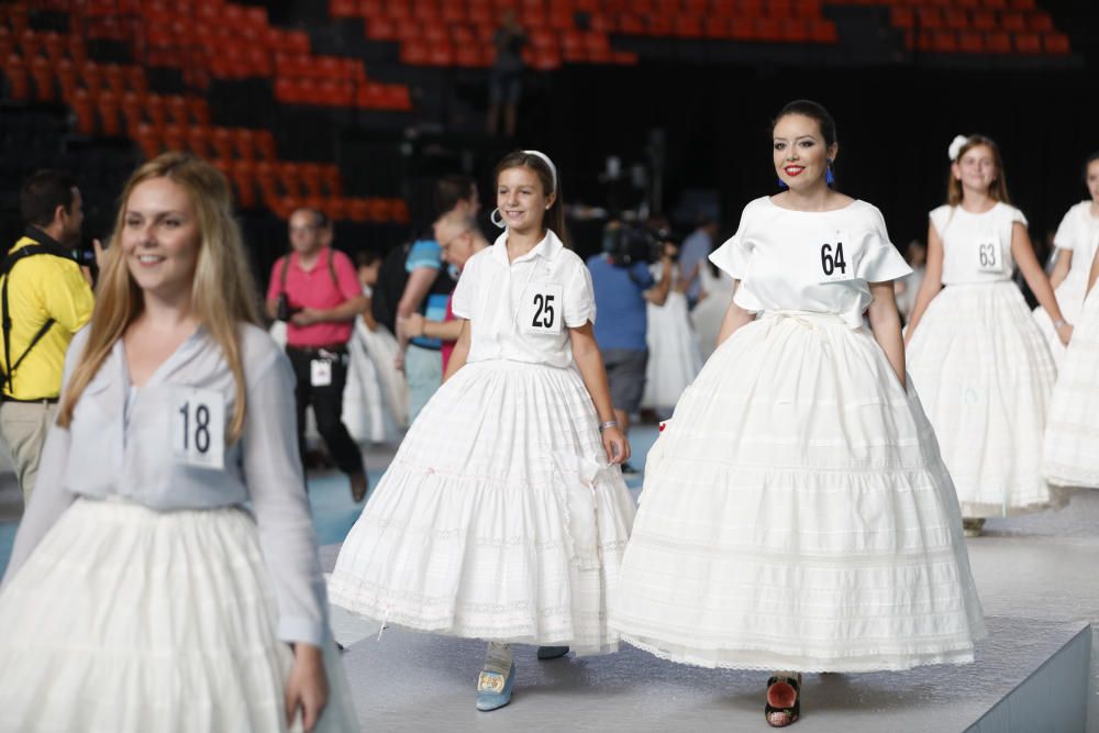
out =
<svg viewBox="0 0 1099 733"><path fill-rule="evenodd" d="M276 625L245 511L77 499L0 593L0 730L286 731ZM357 731L324 656L317 730Z"/></svg>

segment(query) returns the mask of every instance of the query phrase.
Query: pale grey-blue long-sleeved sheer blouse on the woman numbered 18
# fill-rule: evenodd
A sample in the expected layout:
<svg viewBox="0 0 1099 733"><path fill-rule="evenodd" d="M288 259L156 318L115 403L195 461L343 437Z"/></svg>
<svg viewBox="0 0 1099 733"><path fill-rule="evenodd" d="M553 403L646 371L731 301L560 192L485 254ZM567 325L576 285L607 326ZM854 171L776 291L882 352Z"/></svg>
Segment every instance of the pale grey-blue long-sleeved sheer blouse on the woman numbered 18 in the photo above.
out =
<svg viewBox="0 0 1099 733"><path fill-rule="evenodd" d="M87 340L87 329L73 338L64 384ZM279 637L320 645L326 633L325 589L298 455L292 371L286 355L256 326L241 326L241 352L244 433L225 446L223 466L211 468L179 459L173 441L179 440L174 421L185 418L177 404L180 388L220 395L227 431L235 382L217 342L200 326L133 397L129 420L130 377L122 342L116 342L81 395L69 427L49 431L5 579L77 496L120 496L159 511L251 501L278 600ZM195 424L188 434L201 437Z"/></svg>

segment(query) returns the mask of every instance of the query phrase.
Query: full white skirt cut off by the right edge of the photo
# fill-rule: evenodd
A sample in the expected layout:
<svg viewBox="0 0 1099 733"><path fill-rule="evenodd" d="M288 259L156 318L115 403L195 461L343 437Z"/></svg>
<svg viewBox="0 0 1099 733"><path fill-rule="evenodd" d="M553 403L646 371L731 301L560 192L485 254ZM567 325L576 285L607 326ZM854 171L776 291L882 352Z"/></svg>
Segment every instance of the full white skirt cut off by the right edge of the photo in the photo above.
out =
<svg viewBox="0 0 1099 733"><path fill-rule="evenodd" d="M1099 288L1084 304L1053 389L1043 474L1053 484L1099 489Z"/></svg>

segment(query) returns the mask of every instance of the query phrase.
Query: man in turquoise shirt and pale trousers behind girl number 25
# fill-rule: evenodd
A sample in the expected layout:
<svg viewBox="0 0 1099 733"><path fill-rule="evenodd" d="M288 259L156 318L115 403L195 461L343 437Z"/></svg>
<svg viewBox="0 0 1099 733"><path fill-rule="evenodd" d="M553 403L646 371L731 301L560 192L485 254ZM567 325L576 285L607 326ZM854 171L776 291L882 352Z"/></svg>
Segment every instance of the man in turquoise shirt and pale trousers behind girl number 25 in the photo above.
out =
<svg viewBox="0 0 1099 733"><path fill-rule="evenodd" d="M477 184L468 176L446 176L436 184L435 203L440 214L454 211L476 216L480 209ZM430 237L412 243L404 270L408 281L397 304L397 340L403 355L398 357L399 366L403 366L409 384L411 421L415 420L443 381L443 344L439 338L413 337L406 326L414 313L442 321L457 278L443 266L439 242Z"/></svg>

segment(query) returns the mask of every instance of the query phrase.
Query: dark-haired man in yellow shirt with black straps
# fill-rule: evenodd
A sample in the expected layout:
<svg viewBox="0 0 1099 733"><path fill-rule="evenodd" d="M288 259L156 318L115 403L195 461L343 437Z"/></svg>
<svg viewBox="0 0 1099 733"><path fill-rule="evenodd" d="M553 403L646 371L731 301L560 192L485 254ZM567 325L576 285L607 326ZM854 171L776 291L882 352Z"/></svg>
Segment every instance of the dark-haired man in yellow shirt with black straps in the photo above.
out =
<svg viewBox="0 0 1099 733"><path fill-rule="evenodd" d="M54 423L65 351L91 318L91 287L73 249L84 222L73 178L40 170L19 197L25 234L0 265L0 436L11 451L24 503Z"/></svg>

